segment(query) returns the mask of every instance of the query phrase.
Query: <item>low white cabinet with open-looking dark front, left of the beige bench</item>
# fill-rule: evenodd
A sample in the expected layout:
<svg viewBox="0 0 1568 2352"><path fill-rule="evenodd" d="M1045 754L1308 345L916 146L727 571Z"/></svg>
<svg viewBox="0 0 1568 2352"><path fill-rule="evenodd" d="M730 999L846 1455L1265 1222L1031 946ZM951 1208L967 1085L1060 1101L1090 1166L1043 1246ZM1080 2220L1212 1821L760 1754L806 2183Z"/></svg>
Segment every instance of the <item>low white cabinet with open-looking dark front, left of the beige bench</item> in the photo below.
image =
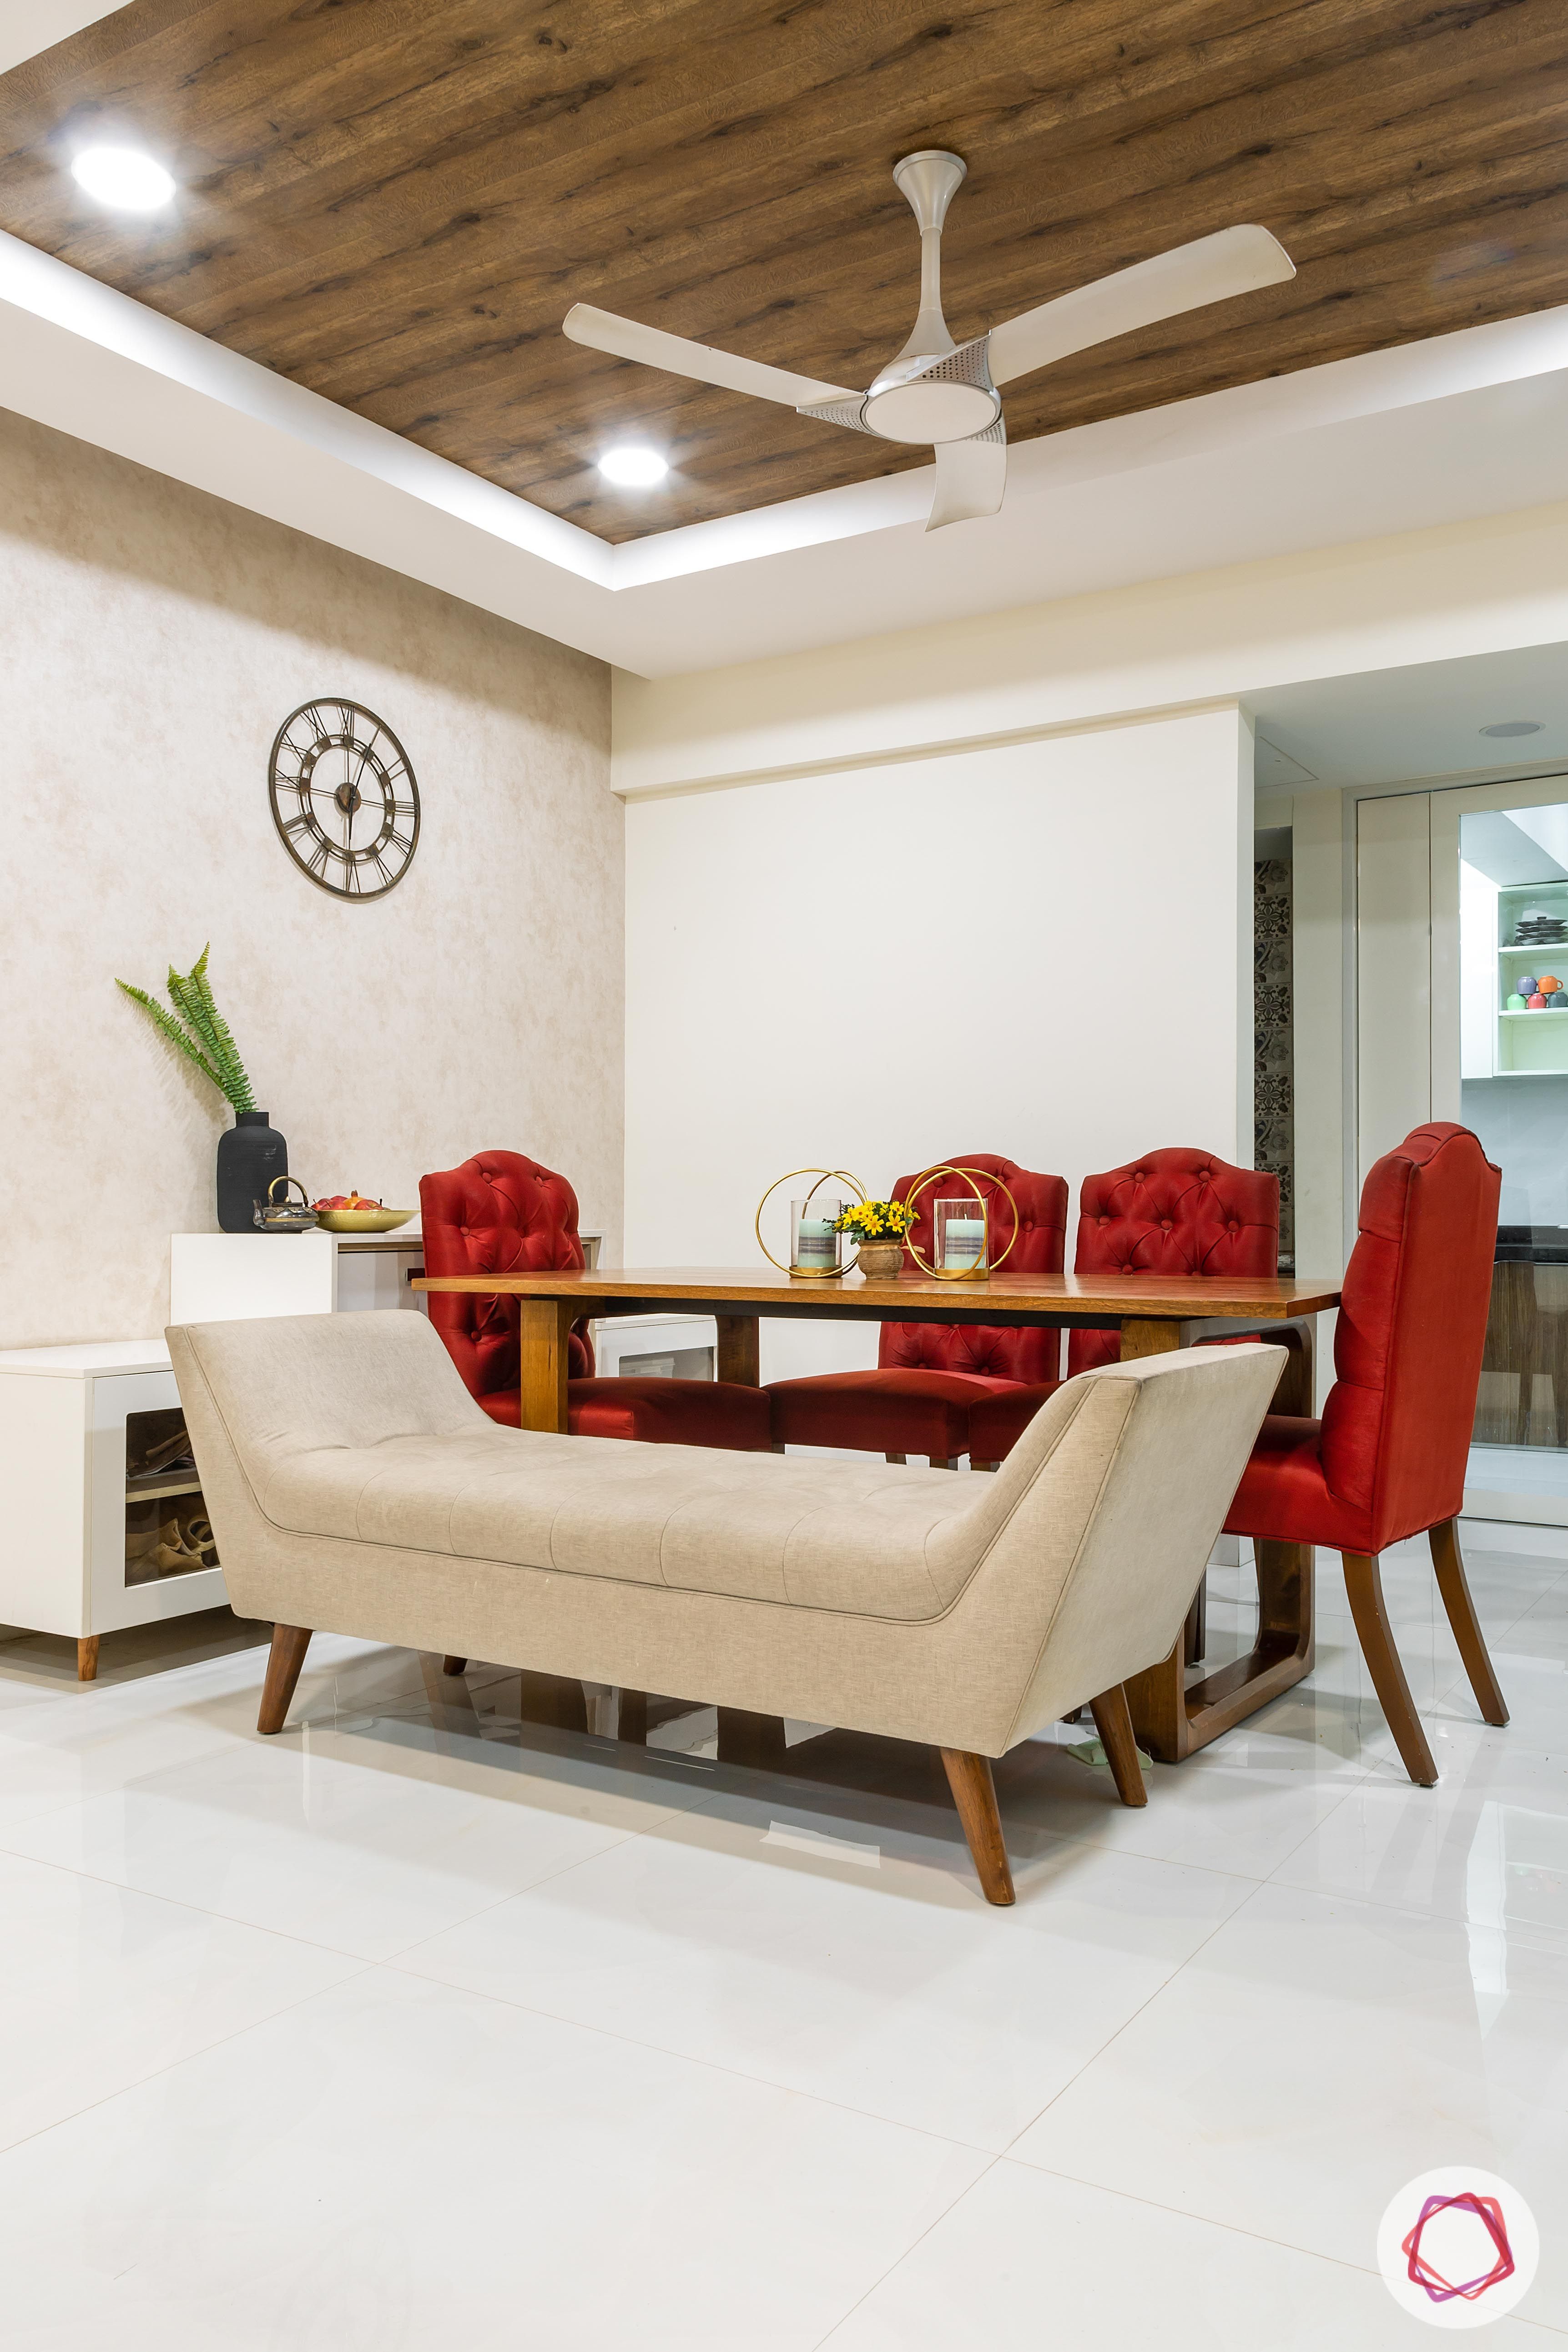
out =
<svg viewBox="0 0 1568 2352"><path fill-rule="evenodd" d="M193 1468L148 1468L183 1428L160 1338L0 1350L0 1618L99 1637L228 1595Z"/></svg>

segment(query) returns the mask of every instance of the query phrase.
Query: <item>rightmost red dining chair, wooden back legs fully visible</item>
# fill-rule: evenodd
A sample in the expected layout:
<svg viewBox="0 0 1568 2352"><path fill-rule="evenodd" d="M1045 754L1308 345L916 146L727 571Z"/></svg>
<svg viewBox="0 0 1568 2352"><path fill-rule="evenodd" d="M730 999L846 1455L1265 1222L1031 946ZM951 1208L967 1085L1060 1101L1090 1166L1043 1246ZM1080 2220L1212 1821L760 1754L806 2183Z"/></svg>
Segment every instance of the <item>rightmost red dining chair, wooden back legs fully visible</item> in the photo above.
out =
<svg viewBox="0 0 1568 2352"><path fill-rule="evenodd" d="M1225 1526L1272 1543L1326 1543L1373 1689L1406 1771L1436 1780L1382 1602L1378 1555L1427 1536L1436 1588L1488 1724L1507 1724L1476 1623L1458 1517L1465 1505L1500 1174L1467 1127L1418 1127L1361 1185L1361 1230L1333 1334L1324 1418L1269 1414Z"/></svg>

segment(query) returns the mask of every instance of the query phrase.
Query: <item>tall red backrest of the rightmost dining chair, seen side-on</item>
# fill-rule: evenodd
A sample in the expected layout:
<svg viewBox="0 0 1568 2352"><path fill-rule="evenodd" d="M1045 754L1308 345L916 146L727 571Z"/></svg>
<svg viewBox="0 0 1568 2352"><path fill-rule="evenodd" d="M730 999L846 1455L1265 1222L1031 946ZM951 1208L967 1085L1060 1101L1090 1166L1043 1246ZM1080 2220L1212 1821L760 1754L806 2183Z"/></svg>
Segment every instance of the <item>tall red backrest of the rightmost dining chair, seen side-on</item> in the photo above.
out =
<svg viewBox="0 0 1568 2352"><path fill-rule="evenodd" d="M1371 1515L1368 1550L1465 1505L1500 1171L1467 1127L1418 1127L1361 1185L1324 1404L1328 1491Z"/></svg>

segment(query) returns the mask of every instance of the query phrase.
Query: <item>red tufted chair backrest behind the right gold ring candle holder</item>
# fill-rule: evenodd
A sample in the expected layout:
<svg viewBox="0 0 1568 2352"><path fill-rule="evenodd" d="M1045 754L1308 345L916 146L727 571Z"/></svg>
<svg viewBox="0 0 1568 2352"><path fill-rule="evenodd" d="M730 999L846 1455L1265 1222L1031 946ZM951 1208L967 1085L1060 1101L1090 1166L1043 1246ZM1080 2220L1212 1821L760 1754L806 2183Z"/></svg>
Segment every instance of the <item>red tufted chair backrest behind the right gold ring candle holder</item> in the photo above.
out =
<svg viewBox="0 0 1568 2352"><path fill-rule="evenodd" d="M945 1167L947 1162L936 1162ZM985 1202L985 1230L994 1254L1006 1249L1013 1232L1013 1211L1006 1192L1018 1204L1018 1240L1006 1254L1004 1272L1060 1275L1067 1249L1067 1183L1063 1176L1034 1176L1016 1160L997 1152L954 1152L952 1167L976 1169L976 1183ZM903 1200L924 1169L900 1176L893 1200ZM992 1183L990 1178L999 1178ZM1001 1190L1006 1185L1006 1192ZM933 1202L954 1192L969 1192L959 1178L938 1178L924 1188L917 1202L914 1240L931 1263L931 1209ZM917 1272L914 1256L905 1249L905 1265ZM954 1284L954 1289L959 1289ZM1011 1331L1006 1324L884 1324L877 1364L884 1369L914 1367L919 1371L978 1371L987 1381L1056 1381L1060 1371L1058 1331Z"/></svg>

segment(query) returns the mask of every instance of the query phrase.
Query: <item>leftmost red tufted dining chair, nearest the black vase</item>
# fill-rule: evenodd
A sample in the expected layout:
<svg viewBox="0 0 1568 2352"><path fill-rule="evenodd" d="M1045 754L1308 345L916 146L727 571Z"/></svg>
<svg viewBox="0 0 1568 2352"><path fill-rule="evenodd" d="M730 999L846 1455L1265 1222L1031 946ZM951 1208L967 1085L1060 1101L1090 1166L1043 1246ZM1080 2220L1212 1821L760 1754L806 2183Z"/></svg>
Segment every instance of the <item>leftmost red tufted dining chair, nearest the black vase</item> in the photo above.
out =
<svg viewBox="0 0 1568 2352"><path fill-rule="evenodd" d="M461 1169L421 1176L425 1272L552 1272L583 1265L576 1192L522 1152L475 1152ZM517 1301L430 1291L430 1322L491 1421L522 1418ZM729 1381L595 1378L588 1322L569 1343L567 1428L574 1437L642 1437L675 1446L766 1454L769 1404Z"/></svg>

